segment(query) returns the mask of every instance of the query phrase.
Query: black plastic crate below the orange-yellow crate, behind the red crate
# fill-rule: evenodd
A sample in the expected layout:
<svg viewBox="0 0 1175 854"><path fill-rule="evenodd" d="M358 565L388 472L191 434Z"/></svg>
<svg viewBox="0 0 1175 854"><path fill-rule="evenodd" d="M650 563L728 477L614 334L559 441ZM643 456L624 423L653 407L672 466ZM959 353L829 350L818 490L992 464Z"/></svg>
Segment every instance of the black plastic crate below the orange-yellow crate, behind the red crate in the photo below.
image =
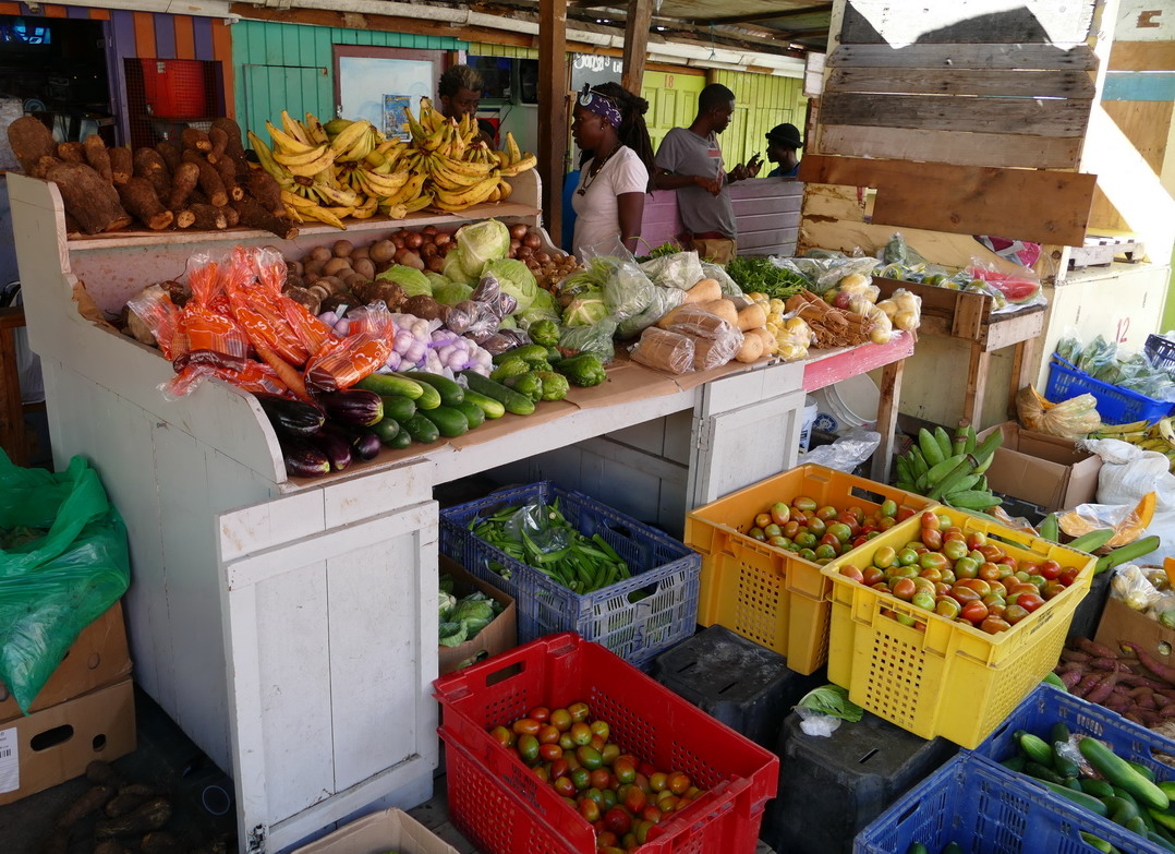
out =
<svg viewBox="0 0 1175 854"><path fill-rule="evenodd" d="M804 676L787 659L723 626L711 626L657 656L652 676L711 718L768 750L792 706L827 679Z"/></svg>

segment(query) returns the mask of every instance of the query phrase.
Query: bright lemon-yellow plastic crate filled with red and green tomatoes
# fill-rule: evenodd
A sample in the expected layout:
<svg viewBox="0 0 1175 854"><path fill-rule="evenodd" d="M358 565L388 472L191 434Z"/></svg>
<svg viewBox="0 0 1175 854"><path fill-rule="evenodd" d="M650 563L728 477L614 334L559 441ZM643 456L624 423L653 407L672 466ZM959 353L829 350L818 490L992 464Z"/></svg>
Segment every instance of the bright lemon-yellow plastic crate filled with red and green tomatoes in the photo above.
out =
<svg viewBox="0 0 1175 854"><path fill-rule="evenodd" d="M987 534L1018 560L1052 559L1063 568L1080 567L1063 593L999 634L916 608L839 574L846 563L859 568L872 563L882 546L901 548L918 540L916 516L821 569L832 581L828 681L847 688L858 706L902 729L924 739L941 735L973 749L1056 667L1073 613L1089 592L1095 561L1085 552L949 507L935 513L951 516L967 534ZM904 626L882 609L912 616L926 628Z"/></svg>

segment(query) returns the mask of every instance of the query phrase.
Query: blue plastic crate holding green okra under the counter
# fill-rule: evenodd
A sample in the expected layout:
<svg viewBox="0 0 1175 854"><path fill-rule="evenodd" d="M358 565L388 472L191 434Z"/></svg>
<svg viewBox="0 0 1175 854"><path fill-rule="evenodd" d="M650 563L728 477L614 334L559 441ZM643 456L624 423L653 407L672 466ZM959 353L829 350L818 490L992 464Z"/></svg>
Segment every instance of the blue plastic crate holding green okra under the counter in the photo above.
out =
<svg viewBox="0 0 1175 854"><path fill-rule="evenodd" d="M577 594L469 529L476 519L535 499L546 503L558 499L568 522L588 536L603 536L627 562L632 578ZM519 643L556 632L577 632L647 669L657 654L694 632L701 555L656 528L551 481L503 489L442 511L441 552L515 598ZM510 579L502 578L496 567L509 569ZM629 594L637 591L647 595L630 602Z"/></svg>

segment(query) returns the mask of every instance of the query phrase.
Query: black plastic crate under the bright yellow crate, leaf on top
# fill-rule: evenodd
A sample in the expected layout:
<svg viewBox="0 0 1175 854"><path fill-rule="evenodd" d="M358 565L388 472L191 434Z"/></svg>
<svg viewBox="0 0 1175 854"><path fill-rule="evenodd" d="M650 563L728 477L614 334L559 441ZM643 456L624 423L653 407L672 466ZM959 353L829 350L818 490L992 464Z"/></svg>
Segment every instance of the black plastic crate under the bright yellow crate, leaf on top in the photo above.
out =
<svg viewBox="0 0 1175 854"><path fill-rule="evenodd" d="M791 714L779 733L779 794L759 835L780 854L851 854L858 833L956 749L868 713L830 738L805 735Z"/></svg>

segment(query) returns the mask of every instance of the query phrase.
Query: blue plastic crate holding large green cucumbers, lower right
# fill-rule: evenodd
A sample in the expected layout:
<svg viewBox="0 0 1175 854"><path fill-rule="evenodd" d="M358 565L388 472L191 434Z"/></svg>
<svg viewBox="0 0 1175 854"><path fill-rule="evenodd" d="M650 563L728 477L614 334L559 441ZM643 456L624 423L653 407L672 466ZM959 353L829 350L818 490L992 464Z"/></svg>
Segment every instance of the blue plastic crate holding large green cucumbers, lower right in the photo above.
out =
<svg viewBox="0 0 1175 854"><path fill-rule="evenodd" d="M1175 756L1175 741L1126 720L1092 702L1047 685L1038 686L1007 720L988 735L974 753L994 762L1016 754L1018 729L1049 741L1049 729L1061 721L1074 734L1093 735L1109 745L1122 759L1144 765L1159 780L1175 779L1175 768L1163 765L1154 753Z"/></svg>

